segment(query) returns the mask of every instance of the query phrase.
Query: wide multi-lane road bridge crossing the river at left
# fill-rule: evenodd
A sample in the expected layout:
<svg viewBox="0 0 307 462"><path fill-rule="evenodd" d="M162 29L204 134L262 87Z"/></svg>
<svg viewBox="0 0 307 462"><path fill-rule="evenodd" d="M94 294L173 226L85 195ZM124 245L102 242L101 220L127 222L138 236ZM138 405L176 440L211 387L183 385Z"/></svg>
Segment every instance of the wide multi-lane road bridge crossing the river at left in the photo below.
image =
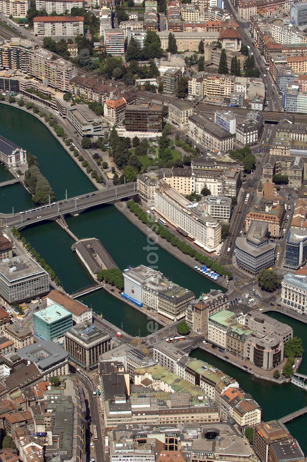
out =
<svg viewBox="0 0 307 462"><path fill-rule="evenodd" d="M14 215L12 213L0 213L0 219L2 225L6 227L15 226L18 230L21 230L33 223L43 220L56 220L61 215L76 215L88 208L101 204L114 204L114 202L134 195L137 195L136 183L131 182L95 191L94 193L72 197L67 201L53 202L46 208L37 206L31 210L15 213Z"/></svg>

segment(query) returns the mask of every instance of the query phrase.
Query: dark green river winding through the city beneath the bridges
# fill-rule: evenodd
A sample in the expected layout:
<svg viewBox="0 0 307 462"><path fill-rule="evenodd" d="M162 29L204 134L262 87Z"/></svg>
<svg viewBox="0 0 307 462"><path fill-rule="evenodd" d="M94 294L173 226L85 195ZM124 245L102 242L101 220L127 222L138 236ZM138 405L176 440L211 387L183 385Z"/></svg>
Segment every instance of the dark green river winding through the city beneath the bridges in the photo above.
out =
<svg viewBox="0 0 307 462"><path fill-rule="evenodd" d="M18 127L18 131L16 127ZM64 196L65 188L68 189L70 196L85 194L94 189L89 179L53 137L48 128L30 114L1 105L0 134L37 156L41 171L48 178L58 199ZM10 174L1 166L0 181L9 178ZM11 212L12 206L16 211L25 209L26 201L29 201L26 207L31 207L31 198L21 185L16 184L0 189L1 212ZM150 251L154 250L158 259L158 269L174 282L188 287L195 292L196 296L201 292L208 292L210 288L219 287L186 266L183 263L184 256L183 261L178 261L160 247L152 249L151 246L148 250L147 237L129 220L125 219L115 207L96 207L78 217L67 218L67 222L77 237L97 237L100 239L121 269L129 265L147 265L147 257ZM22 231L22 234L55 270L55 274L60 277L62 286L68 293L92 284L92 278L75 252L71 250L74 241L55 222L31 225ZM148 334L147 317L106 292L102 290L92 292L84 296L82 301L119 327L123 323L123 329L129 334ZM307 352L306 326L279 313L274 313L271 316L292 326L295 335L303 339ZM203 350L196 350L191 353L191 356L206 360L238 379L240 386L251 393L262 407L264 420L282 417L307 406L307 392L295 385L277 385L255 379L250 374L225 363L221 359L204 353ZM307 354L300 366L300 371L307 373ZM298 439L306 454L307 416L289 422L287 427Z"/></svg>

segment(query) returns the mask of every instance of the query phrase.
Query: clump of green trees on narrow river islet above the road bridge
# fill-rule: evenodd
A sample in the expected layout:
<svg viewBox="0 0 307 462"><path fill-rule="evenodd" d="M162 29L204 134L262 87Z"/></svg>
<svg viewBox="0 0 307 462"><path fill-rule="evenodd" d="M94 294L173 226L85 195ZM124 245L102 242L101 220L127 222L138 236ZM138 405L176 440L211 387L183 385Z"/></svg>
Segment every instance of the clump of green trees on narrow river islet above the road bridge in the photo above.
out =
<svg viewBox="0 0 307 462"><path fill-rule="evenodd" d="M29 189L33 195L33 201L40 204L48 204L55 201L55 193L53 192L49 181L39 170L39 164L37 158L27 153L28 169L25 172L25 186Z"/></svg>

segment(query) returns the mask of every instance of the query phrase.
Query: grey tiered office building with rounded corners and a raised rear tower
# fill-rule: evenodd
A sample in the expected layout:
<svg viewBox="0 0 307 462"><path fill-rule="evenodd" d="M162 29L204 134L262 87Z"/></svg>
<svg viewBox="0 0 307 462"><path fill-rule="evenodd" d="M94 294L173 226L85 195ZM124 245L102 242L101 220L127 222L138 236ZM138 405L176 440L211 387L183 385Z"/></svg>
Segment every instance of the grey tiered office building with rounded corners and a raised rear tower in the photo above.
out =
<svg viewBox="0 0 307 462"><path fill-rule="evenodd" d="M253 220L246 237L236 239L236 263L250 274L274 265L275 245L270 243L269 225Z"/></svg>

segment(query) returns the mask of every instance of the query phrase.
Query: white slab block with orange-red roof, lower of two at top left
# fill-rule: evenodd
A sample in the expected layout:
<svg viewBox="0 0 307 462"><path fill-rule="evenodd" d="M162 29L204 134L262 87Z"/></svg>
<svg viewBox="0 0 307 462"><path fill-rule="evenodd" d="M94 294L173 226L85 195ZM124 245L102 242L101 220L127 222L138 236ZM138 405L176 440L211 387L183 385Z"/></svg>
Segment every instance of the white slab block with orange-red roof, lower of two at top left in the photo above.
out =
<svg viewBox="0 0 307 462"><path fill-rule="evenodd" d="M33 19L34 36L83 35L83 16L37 16Z"/></svg>

